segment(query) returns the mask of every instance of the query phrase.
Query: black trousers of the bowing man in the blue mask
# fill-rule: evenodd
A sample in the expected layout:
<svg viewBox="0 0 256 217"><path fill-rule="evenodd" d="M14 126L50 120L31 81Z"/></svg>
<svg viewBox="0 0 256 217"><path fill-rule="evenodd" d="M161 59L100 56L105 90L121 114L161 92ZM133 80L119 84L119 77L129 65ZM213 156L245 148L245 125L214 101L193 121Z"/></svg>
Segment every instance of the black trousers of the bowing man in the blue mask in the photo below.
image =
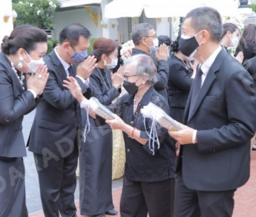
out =
<svg viewBox="0 0 256 217"><path fill-rule="evenodd" d="M66 158L48 158L35 153L34 158L44 216L59 217L60 214L62 217L76 216L74 192L77 147Z"/></svg>

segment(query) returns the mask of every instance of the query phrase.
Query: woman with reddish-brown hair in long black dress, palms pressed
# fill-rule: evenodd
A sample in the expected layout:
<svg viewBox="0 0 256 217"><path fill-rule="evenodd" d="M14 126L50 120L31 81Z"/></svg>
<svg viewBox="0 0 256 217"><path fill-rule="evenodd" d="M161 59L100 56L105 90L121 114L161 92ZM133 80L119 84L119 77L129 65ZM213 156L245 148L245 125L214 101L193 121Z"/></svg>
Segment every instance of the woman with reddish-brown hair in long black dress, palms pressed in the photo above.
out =
<svg viewBox="0 0 256 217"><path fill-rule="evenodd" d="M93 96L103 105L110 105L119 96L123 77L120 70L111 76L118 63L117 41L99 38L93 45L91 55L98 67L90 76ZM103 217L116 215L112 200L112 131L109 125L99 125L89 117L90 132L80 152L80 211L82 215Z"/></svg>

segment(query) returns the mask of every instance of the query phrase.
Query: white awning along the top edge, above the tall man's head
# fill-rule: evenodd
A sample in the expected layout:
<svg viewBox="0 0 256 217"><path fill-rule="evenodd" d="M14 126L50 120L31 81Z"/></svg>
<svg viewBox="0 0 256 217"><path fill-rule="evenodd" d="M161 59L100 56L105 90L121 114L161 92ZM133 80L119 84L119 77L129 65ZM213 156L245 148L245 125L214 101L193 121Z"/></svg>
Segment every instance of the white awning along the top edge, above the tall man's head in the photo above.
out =
<svg viewBox="0 0 256 217"><path fill-rule="evenodd" d="M104 8L106 18L140 17L185 17L193 8L208 6L217 9L222 16L238 14L235 0L113 0Z"/></svg>

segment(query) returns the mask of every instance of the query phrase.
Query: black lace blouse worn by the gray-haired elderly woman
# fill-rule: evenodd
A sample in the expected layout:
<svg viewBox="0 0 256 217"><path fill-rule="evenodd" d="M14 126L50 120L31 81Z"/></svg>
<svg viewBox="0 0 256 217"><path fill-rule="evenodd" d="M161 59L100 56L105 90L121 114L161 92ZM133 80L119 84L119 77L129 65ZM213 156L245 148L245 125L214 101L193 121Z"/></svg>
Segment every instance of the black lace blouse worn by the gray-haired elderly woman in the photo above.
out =
<svg viewBox="0 0 256 217"><path fill-rule="evenodd" d="M154 87L143 96L138 104L137 110L134 113L134 95L126 94L122 96L116 103L109 105L108 108L113 113L118 114L125 123L141 130L141 138L149 138L148 134L151 130L152 120L144 118L140 109L149 102L161 107L165 112L168 112L167 101L158 94ZM144 121L145 120L145 121ZM145 130L146 126L146 130ZM125 132L123 136L125 139L125 177L129 180L141 182L156 182L166 180L167 178L174 178L175 167L175 148L174 141L167 134L167 130L160 125L156 125L158 132L158 139L160 141L160 148L154 144L154 152L149 149L149 141L142 145L135 139L129 137ZM152 141L150 141L152 143ZM153 155L154 154L154 155Z"/></svg>

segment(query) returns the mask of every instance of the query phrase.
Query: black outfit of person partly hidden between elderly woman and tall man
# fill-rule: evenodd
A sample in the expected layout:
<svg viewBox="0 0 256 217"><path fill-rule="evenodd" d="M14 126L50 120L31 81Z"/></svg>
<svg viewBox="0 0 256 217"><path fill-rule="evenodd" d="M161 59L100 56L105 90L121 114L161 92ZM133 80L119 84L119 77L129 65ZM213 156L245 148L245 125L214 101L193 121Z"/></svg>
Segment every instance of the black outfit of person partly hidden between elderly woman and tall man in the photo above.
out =
<svg viewBox="0 0 256 217"><path fill-rule="evenodd" d="M185 104L190 93L190 87L194 81L191 78L193 70L174 54L168 59L168 63L170 70L168 98L171 116L176 121L183 123Z"/></svg>

